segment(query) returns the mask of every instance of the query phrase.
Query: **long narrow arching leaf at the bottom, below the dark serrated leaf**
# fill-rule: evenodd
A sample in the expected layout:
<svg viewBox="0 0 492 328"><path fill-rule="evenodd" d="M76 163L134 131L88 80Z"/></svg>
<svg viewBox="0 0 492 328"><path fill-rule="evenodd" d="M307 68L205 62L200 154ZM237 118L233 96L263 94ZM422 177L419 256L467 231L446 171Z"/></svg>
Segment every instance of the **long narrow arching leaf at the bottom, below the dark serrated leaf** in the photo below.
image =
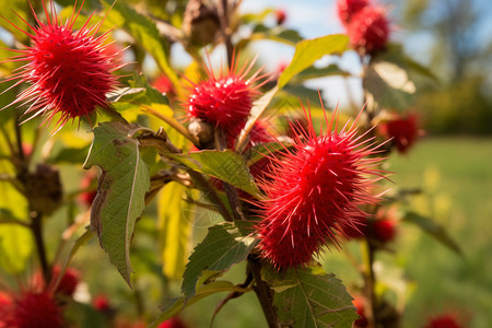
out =
<svg viewBox="0 0 492 328"><path fill-rule="evenodd" d="M197 289L195 296L192 296L191 298L186 300L186 301L184 297L177 298L177 300L176 298L172 300L169 302L169 304L161 313L161 315L149 326L149 328L156 328L164 320L167 320L167 319L174 317L179 312L181 312L184 308L197 303L198 301L200 301L204 297L208 297L212 294L216 294L216 293L221 293L221 292L246 293L246 292L249 292L249 290L236 286L232 282L229 282L229 281L213 281L209 284L200 285Z"/></svg>

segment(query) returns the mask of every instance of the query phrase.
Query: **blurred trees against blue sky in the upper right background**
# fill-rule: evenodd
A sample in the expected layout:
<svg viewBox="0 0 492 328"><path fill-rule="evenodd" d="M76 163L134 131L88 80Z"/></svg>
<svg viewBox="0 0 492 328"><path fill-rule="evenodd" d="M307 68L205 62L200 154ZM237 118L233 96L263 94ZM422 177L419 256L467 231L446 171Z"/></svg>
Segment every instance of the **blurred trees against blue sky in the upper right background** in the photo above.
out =
<svg viewBox="0 0 492 328"><path fill-rule="evenodd" d="M488 0L400 1L412 34L432 37L429 65L441 78L438 90L419 99L425 128L436 133L492 133L492 2ZM488 86L489 85L489 86Z"/></svg>

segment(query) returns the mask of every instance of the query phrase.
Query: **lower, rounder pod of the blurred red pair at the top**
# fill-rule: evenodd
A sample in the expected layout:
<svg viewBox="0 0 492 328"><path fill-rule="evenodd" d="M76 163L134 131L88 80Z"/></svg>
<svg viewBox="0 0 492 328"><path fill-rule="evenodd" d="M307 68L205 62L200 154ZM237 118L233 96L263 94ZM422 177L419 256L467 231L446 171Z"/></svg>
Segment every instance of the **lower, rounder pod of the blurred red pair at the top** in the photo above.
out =
<svg viewBox="0 0 492 328"><path fill-rule="evenodd" d="M386 10L382 7L365 7L352 16L347 34L352 46L364 54L384 49L389 38Z"/></svg>

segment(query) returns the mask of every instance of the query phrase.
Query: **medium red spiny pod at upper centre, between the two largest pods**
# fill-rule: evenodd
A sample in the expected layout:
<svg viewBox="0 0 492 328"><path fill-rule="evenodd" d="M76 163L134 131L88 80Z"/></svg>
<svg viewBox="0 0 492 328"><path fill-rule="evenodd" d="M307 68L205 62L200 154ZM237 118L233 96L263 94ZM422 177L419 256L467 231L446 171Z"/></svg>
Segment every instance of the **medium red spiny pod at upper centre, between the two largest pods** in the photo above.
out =
<svg viewBox="0 0 492 328"><path fill-rule="evenodd" d="M256 81L265 78L259 75L260 71L249 79L246 78L254 62L249 66L245 63L241 69L235 62L231 69L221 71L218 75L208 69L207 80L198 84L191 82L192 89L186 102L188 117L200 118L215 128L221 128L225 136L236 132L237 126L243 127L246 122L258 87L267 82L254 85Z"/></svg>

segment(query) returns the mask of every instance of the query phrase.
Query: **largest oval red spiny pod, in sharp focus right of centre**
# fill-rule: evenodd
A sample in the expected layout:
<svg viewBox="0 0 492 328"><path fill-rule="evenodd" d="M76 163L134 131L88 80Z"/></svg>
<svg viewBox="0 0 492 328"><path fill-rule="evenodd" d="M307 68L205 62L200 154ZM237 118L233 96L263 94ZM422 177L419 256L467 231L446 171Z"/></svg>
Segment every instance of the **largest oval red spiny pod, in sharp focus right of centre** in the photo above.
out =
<svg viewBox="0 0 492 328"><path fill-rule="evenodd" d="M278 269L307 265L327 242L338 246L343 226L358 229L367 215L358 206L378 201L367 192L383 177L374 168L382 159L370 157L378 147L373 138L358 136L355 122L332 129L335 116L316 137L306 114L307 138L300 132L293 150L272 156L269 179L261 183L267 198L260 204L258 247Z"/></svg>

